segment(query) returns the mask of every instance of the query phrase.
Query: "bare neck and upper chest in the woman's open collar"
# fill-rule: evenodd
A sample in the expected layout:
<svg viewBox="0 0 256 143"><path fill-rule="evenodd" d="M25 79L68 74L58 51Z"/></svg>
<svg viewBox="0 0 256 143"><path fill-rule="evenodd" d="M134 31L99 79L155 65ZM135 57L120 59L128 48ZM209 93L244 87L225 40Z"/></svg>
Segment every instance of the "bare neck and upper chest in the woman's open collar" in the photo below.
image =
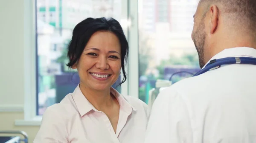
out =
<svg viewBox="0 0 256 143"><path fill-rule="evenodd" d="M79 87L90 104L99 111L104 112L106 108L112 107L115 102L115 97L111 95L110 88L108 90L99 91L90 89L89 87L85 87L81 84L79 84Z"/></svg>

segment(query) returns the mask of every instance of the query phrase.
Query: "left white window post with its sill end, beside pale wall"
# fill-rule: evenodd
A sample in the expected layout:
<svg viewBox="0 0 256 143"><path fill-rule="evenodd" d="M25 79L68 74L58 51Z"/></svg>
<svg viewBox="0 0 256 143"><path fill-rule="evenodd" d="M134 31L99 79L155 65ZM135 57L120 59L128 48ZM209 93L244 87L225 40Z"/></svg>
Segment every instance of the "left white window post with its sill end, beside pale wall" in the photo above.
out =
<svg viewBox="0 0 256 143"><path fill-rule="evenodd" d="M39 125L40 117L36 117L36 8L35 0L24 2L24 120L15 120L16 126ZM31 12L32 11L32 12ZM40 122L39 122L40 121Z"/></svg>

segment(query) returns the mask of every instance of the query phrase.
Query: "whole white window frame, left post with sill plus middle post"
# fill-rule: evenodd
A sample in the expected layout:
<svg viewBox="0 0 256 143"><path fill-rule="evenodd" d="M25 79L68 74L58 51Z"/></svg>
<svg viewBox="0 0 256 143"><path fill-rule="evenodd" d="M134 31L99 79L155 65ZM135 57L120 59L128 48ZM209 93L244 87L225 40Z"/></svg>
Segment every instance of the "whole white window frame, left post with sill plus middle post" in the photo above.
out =
<svg viewBox="0 0 256 143"><path fill-rule="evenodd" d="M24 119L15 120L15 126L40 126L42 116L37 115L37 11L36 0L24 1ZM127 81L121 85L121 94L139 97L139 41L138 0L122 0L122 25L129 43L128 64L125 66ZM123 18L124 17L124 18ZM131 54L132 53L132 54ZM136 55L136 56L135 56ZM132 57L132 58L130 58ZM122 73L121 73L122 74Z"/></svg>

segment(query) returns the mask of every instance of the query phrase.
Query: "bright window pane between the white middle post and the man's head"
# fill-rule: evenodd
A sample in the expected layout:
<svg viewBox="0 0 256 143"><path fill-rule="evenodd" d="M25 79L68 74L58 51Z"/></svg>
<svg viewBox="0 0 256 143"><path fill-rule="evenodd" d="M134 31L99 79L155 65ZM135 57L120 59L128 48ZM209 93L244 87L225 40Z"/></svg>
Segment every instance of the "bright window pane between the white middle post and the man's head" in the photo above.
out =
<svg viewBox="0 0 256 143"><path fill-rule="evenodd" d="M139 2L139 98L150 107L159 93L160 79L165 80L160 87L168 86L200 70L191 39L198 2Z"/></svg>

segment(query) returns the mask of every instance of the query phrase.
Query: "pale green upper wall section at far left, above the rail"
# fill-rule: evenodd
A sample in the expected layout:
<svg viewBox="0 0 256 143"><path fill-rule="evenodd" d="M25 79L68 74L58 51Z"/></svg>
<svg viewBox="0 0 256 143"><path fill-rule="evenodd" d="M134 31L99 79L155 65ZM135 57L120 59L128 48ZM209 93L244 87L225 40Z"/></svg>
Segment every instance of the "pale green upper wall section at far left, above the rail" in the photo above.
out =
<svg viewBox="0 0 256 143"><path fill-rule="evenodd" d="M23 104L23 0L1 0L0 17L0 104Z"/></svg>

